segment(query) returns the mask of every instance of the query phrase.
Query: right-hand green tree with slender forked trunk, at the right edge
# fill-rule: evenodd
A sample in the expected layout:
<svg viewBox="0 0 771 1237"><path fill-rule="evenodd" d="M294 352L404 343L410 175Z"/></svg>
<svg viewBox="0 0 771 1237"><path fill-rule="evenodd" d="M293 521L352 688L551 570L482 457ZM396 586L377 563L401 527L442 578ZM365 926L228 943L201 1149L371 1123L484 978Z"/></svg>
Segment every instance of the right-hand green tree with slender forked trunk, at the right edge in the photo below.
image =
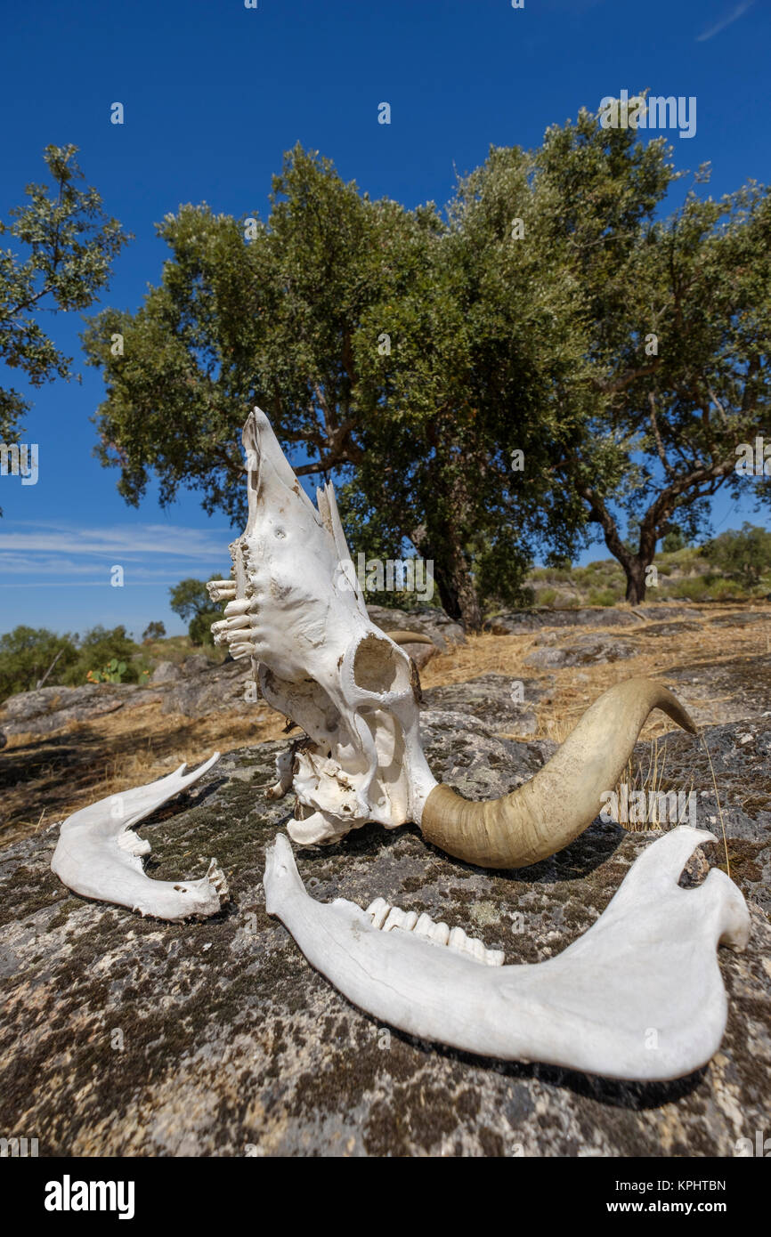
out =
<svg viewBox="0 0 771 1237"><path fill-rule="evenodd" d="M551 129L537 156L542 190L559 204L554 240L584 302L584 355L594 434L557 470L600 524L645 599L656 543L673 528L692 539L709 500L750 484L741 444L766 424L771 395L771 197L750 183L719 202L699 195L699 169L682 205L658 218L679 179L663 139L604 130L582 111ZM771 489L754 477L759 501ZM636 522L625 544L619 515Z"/></svg>

